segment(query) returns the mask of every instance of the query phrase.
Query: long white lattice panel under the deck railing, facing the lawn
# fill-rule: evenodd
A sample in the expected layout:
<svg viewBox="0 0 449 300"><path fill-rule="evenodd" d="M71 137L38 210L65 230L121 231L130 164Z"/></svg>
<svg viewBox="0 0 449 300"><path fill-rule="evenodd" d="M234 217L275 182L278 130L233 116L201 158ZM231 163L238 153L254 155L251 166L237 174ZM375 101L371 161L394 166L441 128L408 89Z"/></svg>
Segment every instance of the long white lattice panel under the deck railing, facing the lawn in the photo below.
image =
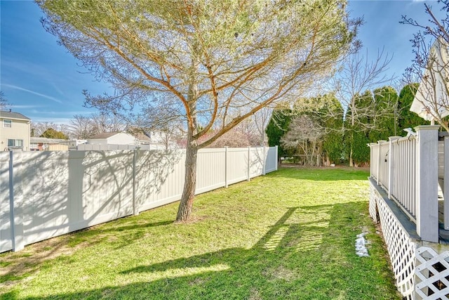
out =
<svg viewBox="0 0 449 300"><path fill-rule="evenodd" d="M410 240L406 230L398 222L382 197L371 187L371 202L377 204L379 221L387 244L391 266L396 279L396 286L404 299L414 299L415 248L416 244ZM370 209L372 209L370 207ZM375 211L375 207L373 208ZM371 211L370 211L371 214ZM373 218L375 219L375 218Z"/></svg>

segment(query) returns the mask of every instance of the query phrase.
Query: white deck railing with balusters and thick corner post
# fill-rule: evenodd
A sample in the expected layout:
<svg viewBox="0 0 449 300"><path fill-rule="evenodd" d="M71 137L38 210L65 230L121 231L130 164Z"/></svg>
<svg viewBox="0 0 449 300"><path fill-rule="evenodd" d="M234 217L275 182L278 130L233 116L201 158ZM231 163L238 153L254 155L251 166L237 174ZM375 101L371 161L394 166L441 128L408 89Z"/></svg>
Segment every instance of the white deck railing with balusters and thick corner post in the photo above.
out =
<svg viewBox="0 0 449 300"><path fill-rule="evenodd" d="M438 129L417 126L416 136L395 136L369 145L371 178L416 223L421 239L429 242L438 242ZM445 170L449 176L449 168ZM449 211L449 204L445 207ZM449 212L446 225L449 228Z"/></svg>

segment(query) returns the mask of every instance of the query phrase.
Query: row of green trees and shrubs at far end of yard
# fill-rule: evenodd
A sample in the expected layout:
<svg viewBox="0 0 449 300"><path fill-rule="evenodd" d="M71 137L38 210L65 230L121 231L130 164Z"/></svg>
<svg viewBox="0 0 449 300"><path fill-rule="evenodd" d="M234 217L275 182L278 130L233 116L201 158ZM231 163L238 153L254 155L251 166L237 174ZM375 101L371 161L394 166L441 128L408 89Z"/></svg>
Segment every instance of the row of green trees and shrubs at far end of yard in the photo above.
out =
<svg viewBox="0 0 449 300"><path fill-rule="evenodd" d="M302 164L368 164L368 143L403 136L403 129L429 124L410 105L419 84L397 93L391 86L356 93L344 109L335 94L300 99L292 107L277 107L267 126L268 143L279 145L280 157L301 157ZM354 122L356 119L356 122ZM303 156L307 155L307 156Z"/></svg>

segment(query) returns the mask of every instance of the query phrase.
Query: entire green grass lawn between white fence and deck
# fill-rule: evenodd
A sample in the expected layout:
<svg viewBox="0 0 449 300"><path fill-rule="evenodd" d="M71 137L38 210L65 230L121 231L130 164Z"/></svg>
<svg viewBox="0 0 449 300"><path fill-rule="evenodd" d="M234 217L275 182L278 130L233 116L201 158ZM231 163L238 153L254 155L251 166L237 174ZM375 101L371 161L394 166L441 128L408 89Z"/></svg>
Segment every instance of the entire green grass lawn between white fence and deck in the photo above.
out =
<svg viewBox="0 0 449 300"><path fill-rule="evenodd" d="M0 299L401 299L367 177L280 169L199 195L189 223L174 203L0 254Z"/></svg>

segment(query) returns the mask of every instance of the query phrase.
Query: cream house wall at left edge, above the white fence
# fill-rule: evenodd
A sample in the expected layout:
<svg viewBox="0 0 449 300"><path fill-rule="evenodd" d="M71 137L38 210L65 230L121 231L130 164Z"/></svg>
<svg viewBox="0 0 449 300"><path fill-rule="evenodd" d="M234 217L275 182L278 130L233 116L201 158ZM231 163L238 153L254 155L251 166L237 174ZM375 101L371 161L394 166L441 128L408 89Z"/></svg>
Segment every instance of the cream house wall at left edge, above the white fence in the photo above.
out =
<svg viewBox="0 0 449 300"><path fill-rule="evenodd" d="M11 127L4 127L4 119L11 119ZM0 150L8 150L8 139L22 140L23 150L29 151L31 122L29 119L0 117Z"/></svg>

